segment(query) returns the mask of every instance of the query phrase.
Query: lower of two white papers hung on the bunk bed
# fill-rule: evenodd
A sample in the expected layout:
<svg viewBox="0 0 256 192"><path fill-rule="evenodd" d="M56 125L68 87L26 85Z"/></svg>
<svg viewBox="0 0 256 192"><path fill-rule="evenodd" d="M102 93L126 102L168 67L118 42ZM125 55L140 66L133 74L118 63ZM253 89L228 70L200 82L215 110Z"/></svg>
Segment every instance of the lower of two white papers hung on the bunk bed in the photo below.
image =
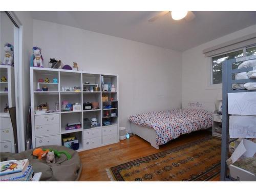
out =
<svg viewBox="0 0 256 192"><path fill-rule="evenodd" d="M230 138L256 138L256 116L230 115Z"/></svg>

